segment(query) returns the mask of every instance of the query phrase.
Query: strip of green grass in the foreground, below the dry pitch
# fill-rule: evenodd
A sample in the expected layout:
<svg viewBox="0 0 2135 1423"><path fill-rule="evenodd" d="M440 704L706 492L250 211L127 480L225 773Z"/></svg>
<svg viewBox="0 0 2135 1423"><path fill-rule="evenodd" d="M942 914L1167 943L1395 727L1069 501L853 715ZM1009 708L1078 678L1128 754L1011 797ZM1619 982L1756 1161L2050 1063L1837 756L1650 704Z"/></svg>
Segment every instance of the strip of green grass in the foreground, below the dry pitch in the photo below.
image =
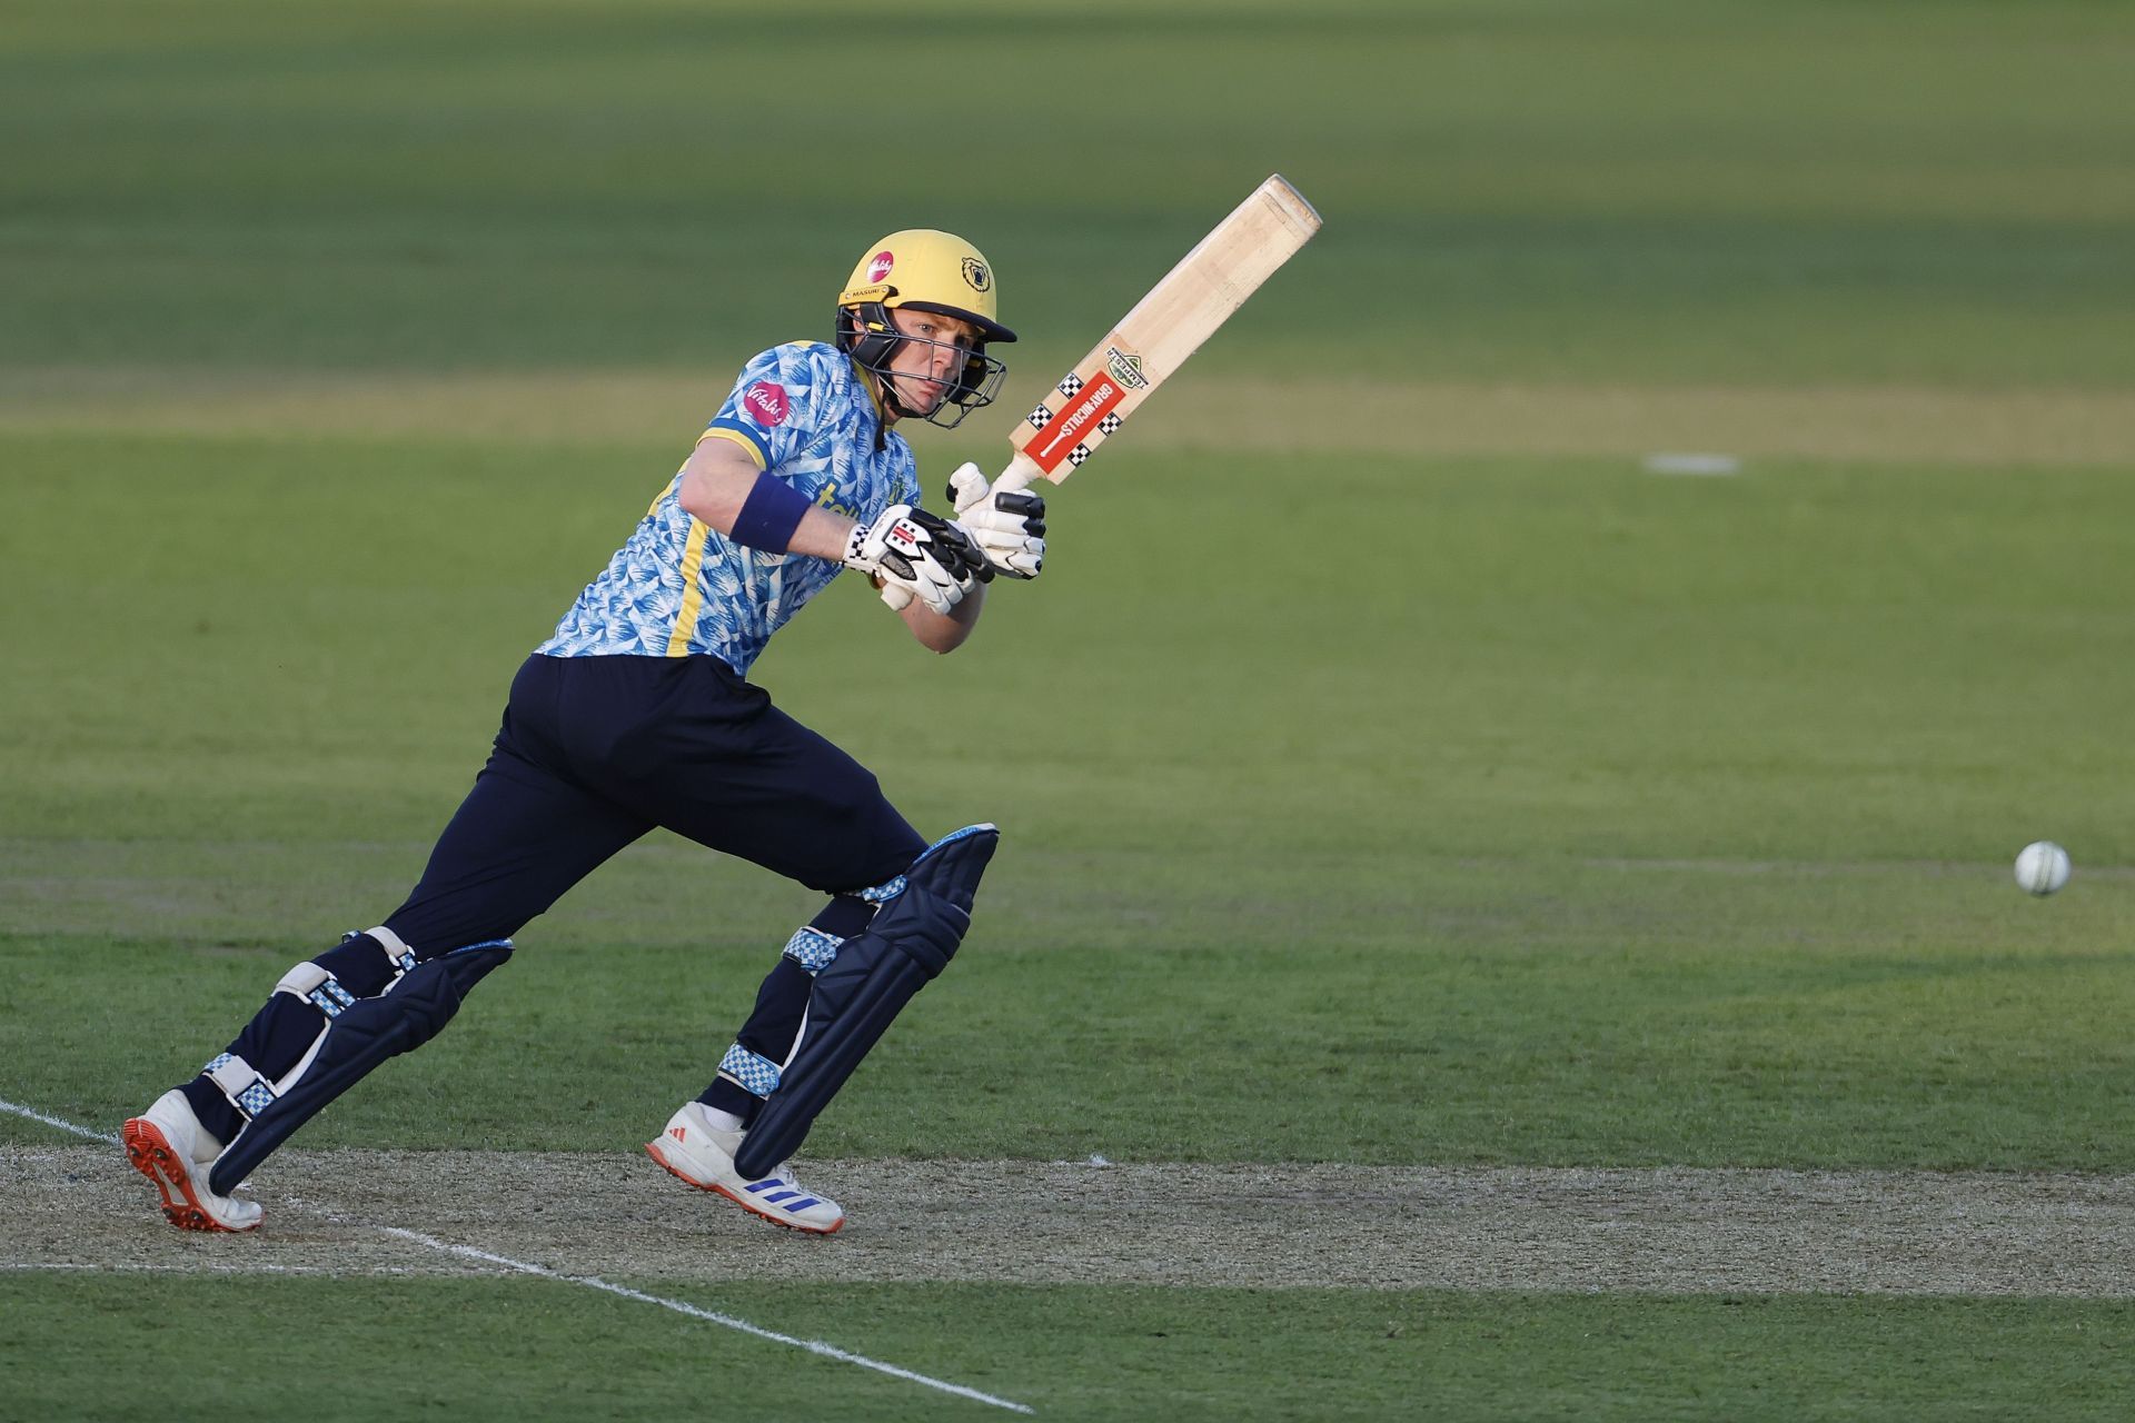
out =
<svg viewBox="0 0 2135 1423"><path fill-rule="evenodd" d="M1044 1397L1035 1417L1270 1419L1883 1419L2116 1417L2131 1368L2126 1304L1988 1299L1642 1299L1371 1291L1010 1286L728 1286L702 1306L803 1336L867 1331L986 1389ZM181 1310L213 1310L228 1346L188 1393L203 1417L260 1412L241 1340L333 1338L350 1357L406 1357L386 1321L450 1316L418 1368L305 1400L320 1423L378 1417L696 1414L792 1408L822 1419L1001 1419L1006 1410L897 1393L826 1359L722 1346L677 1368L643 1308L562 1284L391 1282L352 1312L339 1280L124 1282L0 1278L11 1314L60 1306L94 1331L23 1327L49 1368L11 1389L21 1417L70 1417L83 1378L137 1378ZM971 1321L984 1318L984 1329ZM1003 1359L1006 1338L1027 1344ZM758 1350L758 1353L752 1353ZM557 1370L568 1357L570 1370ZM11 1378L11 1385L15 1378ZM805 1406L794 1408L798 1395ZM1330 1408L1332 1406L1332 1408ZM149 1393L100 1397L98 1419L162 1419Z"/></svg>

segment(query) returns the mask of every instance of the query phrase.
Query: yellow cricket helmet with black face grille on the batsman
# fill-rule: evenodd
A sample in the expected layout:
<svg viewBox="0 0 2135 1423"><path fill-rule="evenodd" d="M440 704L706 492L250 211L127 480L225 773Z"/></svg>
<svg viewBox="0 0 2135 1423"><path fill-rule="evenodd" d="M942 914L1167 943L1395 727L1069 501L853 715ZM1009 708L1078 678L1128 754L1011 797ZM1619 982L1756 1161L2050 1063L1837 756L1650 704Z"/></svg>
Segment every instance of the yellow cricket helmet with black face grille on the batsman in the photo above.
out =
<svg viewBox="0 0 2135 1423"><path fill-rule="evenodd" d="M954 233L907 228L873 243L852 269L837 297L837 346L882 378L886 395L890 356L912 339L890 322L888 314L897 309L954 316L980 333L956 388L927 412L927 422L954 429L967 414L993 403L1008 367L986 354L986 343L1014 341L1016 333L999 322L993 265L978 247Z"/></svg>

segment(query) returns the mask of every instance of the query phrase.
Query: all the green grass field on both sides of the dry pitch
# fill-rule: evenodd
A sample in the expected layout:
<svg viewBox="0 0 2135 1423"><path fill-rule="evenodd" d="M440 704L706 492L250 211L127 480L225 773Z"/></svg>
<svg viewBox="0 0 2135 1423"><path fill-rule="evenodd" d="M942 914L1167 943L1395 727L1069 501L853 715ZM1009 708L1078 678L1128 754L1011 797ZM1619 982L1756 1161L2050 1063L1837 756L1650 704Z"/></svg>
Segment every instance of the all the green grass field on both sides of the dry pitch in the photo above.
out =
<svg viewBox="0 0 2135 1423"><path fill-rule="evenodd" d="M0 1099L113 1131L391 909L517 661L860 243L969 233L1029 335L1008 414L916 435L933 486L1281 169L1326 233L1059 491L1040 585L950 659L839 585L760 663L922 830L1006 832L811 1154L2131 1176L2131 55L2109 4L23 0ZM961 87L910 128L833 102L920 73ZM1640 463L1680 448L1744 463ZM655 836L303 1144L634 1150L809 911ZM248 1417L263 1333L425 1340L322 1419L993 1417L555 1280L203 1244L0 1269L0 1417ZM1046 1419L2135 1387L2124 1295L617 1282ZM83 1385L203 1350L175 1406Z"/></svg>

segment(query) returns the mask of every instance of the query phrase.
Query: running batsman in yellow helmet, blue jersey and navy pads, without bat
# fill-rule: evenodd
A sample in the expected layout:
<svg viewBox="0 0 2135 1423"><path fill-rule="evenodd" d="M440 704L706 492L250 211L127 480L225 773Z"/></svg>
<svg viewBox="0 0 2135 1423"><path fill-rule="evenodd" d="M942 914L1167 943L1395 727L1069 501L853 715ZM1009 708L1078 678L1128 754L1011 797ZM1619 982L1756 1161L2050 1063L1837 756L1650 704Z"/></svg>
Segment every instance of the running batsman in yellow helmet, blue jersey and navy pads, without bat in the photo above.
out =
<svg viewBox="0 0 2135 1423"><path fill-rule="evenodd" d="M647 1146L690 1186L798 1231L845 1212L788 1165L897 1009L956 952L993 826L929 845L856 760L771 704L749 666L786 619L858 570L920 644L971 636L995 576L1035 578L1044 501L950 482L920 508L910 418L993 401L993 267L905 230L867 250L835 333L741 369L636 531L519 668L474 789L421 883L378 928L282 975L199 1075L124 1126L181 1229L250 1231L233 1190L384 1058L438 1035L512 934L655 826L824 898L786 943L711 1086Z"/></svg>

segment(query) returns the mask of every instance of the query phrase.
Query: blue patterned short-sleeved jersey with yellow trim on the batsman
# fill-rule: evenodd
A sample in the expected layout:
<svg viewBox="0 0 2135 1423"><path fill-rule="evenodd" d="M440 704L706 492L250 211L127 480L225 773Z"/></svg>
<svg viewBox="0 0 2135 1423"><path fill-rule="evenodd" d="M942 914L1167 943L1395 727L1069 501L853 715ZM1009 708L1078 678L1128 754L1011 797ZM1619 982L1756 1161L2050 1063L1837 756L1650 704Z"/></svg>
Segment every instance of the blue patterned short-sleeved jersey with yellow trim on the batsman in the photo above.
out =
<svg viewBox="0 0 2135 1423"><path fill-rule="evenodd" d="M835 346L775 346L741 367L702 439L732 439L811 503L858 521L918 503L912 446L884 429L852 358ZM711 653L747 674L779 627L843 565L734 544L681 508L681 471L608 567L579 593L551 657Z"/></svg>

